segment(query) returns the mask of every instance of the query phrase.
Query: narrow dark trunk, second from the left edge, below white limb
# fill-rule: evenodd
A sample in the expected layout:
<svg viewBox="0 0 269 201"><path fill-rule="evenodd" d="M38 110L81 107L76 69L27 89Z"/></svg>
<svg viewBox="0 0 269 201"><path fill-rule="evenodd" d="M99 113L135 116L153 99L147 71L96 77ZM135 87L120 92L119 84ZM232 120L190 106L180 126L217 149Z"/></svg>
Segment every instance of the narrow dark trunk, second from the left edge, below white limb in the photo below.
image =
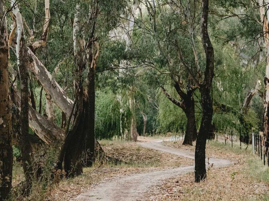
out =
<svg viewBox="0 0 269 201"><path fill-rule="evenodd" d="M22 39L23 44L23 39ZM29 107L28 107L28 68L27 68L27 60L24 56L25 48L22 45L20 49L20 64L19 64L19 72L20 72L20 86L21 86L21 113L20 113L20 123L21 123L21 136L19 136L19 146L21 148L21 159L23 171L26 179L26 193L29 193L31 190L31 181L32 176L34 175L31 155L32 146L30 143L30 134L29 134Z"/></svg>

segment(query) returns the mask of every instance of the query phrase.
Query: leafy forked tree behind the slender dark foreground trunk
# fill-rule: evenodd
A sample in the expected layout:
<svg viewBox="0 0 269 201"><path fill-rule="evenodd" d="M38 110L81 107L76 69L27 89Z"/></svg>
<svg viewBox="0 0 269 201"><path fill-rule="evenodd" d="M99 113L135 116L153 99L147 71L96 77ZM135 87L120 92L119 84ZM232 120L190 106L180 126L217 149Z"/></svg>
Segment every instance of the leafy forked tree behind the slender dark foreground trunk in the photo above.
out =
<svg viewBox="0 0 269 201"><path fill-rule="evenodd" d="M190 3L192 7L197 7L195 3ZM141 7L144 7L148 15L142 9L141 18L136 20L134 35L137 41L134 39L136 43L133 47L139 49L136 61L138 65L146 66L146 74L152 82L162 89L168 100L186 114L187 126L183 144L192 145L197 136L193 94L198 87L191 76L200 74L198 50L194 43L197 33L195 29L199 23L197 24L197 20L191 20L196 14L191 13L189 2L179 4L161 1L156 5L155 1L146 1ZM190 66L187 66L182 58L185 55L182 54L179 43ZM171 88L169 86L177 92L180 100L168 92Z"/></svg>

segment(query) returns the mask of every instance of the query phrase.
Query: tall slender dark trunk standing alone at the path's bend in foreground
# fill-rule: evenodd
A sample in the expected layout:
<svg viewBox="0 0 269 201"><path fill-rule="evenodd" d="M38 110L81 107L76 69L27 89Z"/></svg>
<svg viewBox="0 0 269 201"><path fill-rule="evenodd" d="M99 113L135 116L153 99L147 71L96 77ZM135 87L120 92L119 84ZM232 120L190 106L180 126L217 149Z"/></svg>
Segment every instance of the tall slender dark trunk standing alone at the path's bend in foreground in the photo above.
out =
<svg viewBox="0 0 269 201"><path fill-rule="evenodd" d="M200 182L206 178L205 169L205 144L206 137L210 130L210 125L213 116L213 101L211 97L211 86L214 77L214 49L211 44L208 31L208 10L209 10L209 0L202 1L202 16L201 16L201 38L205 49L206 55L206 68L205 68L205 78L203 84L200 86L199 90L201 92L202 100L202 120L199 133L196 140L195 147L195 181Z"/></svg>

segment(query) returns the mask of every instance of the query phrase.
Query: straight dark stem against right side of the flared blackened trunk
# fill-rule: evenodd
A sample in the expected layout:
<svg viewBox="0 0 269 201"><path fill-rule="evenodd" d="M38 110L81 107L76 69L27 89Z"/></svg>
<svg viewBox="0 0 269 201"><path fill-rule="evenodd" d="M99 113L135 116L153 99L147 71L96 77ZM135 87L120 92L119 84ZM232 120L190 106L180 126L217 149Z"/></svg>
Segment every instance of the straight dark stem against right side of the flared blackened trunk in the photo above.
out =
<svg viewBox="0 0 269 201"><path fill-rule="evenodd" d="M90 68L88 72L88 132L86 144L86 166L91 167L94 157L94 117L95 117L95 83L94 68Z"/></svg>

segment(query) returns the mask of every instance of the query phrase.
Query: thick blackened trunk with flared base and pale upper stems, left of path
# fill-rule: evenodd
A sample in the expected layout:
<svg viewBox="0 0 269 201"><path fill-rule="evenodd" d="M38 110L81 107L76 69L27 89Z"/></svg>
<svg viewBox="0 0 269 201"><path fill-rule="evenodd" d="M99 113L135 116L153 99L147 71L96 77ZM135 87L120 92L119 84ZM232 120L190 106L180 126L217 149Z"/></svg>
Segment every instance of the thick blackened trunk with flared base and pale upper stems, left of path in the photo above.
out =
<svg viewBox="0 0 269 201"><path fill-rule="evenodd" d="M79 20L80 5L76 5L76 12L73 23L73 42L74 42L74 63L76 70L75 90L76 90L76 111L73 128L67 133L63 148L59 155L57 168L61 169L64 159L64 169L67 176L79 175L83 172L83 156L85 156L85 148L87 149L90 161L86 161L89 165L92 164L94 155L94 69L96 67L96 59L99 55L99 45L95 42L94 37L95 23L98 16L98 2L95 1L95 6L91 8L91 16L89 16L88 26L91 27L91 33L88 36L88 45L83 46L83 36L80 33L81 21ZM97 53L92 51L94 46L97 47ZM85 49L84 49L85 48ZM90 51L91 50L91 51ZM87 52L86 58L83 52ZM83 89L83 72L87 70L87 89ZM73 109L71 112L71 117ZM70 123L70 116L67 124L67 131Z"/></svg>

